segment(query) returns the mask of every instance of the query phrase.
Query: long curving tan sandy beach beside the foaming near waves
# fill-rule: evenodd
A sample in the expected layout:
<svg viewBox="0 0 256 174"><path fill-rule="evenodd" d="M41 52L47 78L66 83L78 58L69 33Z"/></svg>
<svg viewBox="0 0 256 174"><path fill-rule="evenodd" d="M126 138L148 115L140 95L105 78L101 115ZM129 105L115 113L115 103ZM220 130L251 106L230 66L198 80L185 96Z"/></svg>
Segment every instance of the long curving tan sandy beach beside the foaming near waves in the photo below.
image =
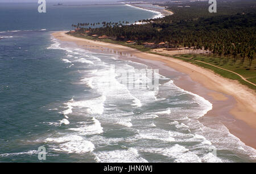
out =
<svg viewBox="0 0 256 174"><path fill-rule="evenodd" d="M65 34L64 31L55 32L52 36L61 41L72 41L81 48L119 54L129 60L155 66L163 75L168 68L177 71L181 75L174 79L176 86L203 96L213 104L212 111L201 118L202 122L206 117L220 119L230 133L236 135L246 145L256 148L256 95L253 90L236 80L220 77L210 70L176 58L143 53L122 45L73 37Z"/></svg>

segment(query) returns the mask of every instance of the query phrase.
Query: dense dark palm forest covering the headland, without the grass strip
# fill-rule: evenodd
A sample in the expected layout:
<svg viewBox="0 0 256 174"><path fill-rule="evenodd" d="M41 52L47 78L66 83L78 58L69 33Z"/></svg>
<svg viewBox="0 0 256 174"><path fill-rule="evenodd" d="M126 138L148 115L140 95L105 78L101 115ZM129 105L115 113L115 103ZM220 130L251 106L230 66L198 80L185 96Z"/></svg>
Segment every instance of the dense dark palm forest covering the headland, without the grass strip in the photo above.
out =
<svg viewBox="0 0 256 174"><path fill-rule="evenodd" d="M159 4L160 5L160 4ZM206 50L209 56L238 58L250 62L255 57L256 2L218 2L217 13L208 12L208 2L166 3L174 15L128 22L72 24L76 34L105 36L141 45L166 43L168 48L187 47ZM161 5L160 5L161 6ZM186 7L185 7L186 6ZM98 27L97 27L98 26Z"/></svg>

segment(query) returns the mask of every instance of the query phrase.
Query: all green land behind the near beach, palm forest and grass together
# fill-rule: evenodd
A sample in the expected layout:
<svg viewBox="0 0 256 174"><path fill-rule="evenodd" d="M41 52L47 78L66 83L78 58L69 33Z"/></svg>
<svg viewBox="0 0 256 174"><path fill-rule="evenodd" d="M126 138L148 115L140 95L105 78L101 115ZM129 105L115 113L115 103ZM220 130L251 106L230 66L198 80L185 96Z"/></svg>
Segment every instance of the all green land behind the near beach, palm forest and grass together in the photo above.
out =
<svg viewBox="0 0 256 174"><path fill-rule="evenodd" d="M76 29L69 34L179 58L256 89L237 75L252 83L256 81L255 1L218 1L217 13L213 14L208 12L208 1L158 5L167 6L174 15L139 20L143 24L130 25L124 21L72 24ZM150 52L150 48L159 45L186 48L192 54L170 56Z"/></svg>

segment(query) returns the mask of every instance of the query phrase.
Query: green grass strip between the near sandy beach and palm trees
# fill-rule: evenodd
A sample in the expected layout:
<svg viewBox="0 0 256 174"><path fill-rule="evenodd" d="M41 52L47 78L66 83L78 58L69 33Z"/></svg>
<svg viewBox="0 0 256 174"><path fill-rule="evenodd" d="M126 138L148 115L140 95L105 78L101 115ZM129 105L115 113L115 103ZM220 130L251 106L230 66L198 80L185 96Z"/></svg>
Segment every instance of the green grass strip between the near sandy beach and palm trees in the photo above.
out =
<svg viewBox="0 0 256 174"><path fill-rule="evenodd" d="M98 38L92 37L92 36L81 36L81 35L78 35L77 33L73 33L72 36L81 37L81 38L89 39L89 40L103 41L105 43L112 43L112 44L119 44L119 45L123 45L123 46L129 46L130 48L135 48L135 49L138 49L142 52L147 52L147 53L151 53L151 54L158 54L158 55L166 56L166 57L178 58L180 60L193 63L197 66L201 66L201 67L204 67L206 69L213 70L214 73L220 74L222 77L233 79L233 80L238 80L241 84L244 84L247 87L249 87L253 90L256 90L256 87L253 84L250 84L250 83L246 82L245 80L241 79L238 75L218 68L218 67L221 67L223 69L234 71L237 74L240 74L243 77L245 77L248 81L253 82L253 83L256 84L256 60L253 60L253 63L251 65L251 67L249 68L249 61L248 60L245 60L245 62L242 63L240 60L237 60L235 62L233 60L233 58L229 58L229 60L227 60L226 58L218 58L218 57L214 58L214 57L209 57L209 56L205 56L205 55L201 55L201 54L180 54L180 55L177 55L177 56L170 56L168 54L151 52L150 48L146 48L143 45L127 44L124 41L115 41L115 40L112 40L112 39L98 39ZM195 60L202 61L202 62L205 62L205 63L210 63L211 65L215 65L215 66L218 66L218 67L210 66L210 65L207 65L205 63L197 62Z"/></svg>

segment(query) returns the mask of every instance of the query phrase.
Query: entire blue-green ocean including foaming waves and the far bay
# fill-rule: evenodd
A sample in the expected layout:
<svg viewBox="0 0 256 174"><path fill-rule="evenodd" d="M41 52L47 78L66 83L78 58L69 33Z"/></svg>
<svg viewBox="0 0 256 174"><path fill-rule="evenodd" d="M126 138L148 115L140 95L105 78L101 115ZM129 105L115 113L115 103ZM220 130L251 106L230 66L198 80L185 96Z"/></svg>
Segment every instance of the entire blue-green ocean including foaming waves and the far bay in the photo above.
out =
<svg viewBox="0 0 256 174"><path fill-rule="evenodd" d="M0 3L0 162L255 162L255 150L224 125L199 121L212 104L175 86L174 75L51 36L157 12L47 4L39 14L37 6Z"/></svg>

